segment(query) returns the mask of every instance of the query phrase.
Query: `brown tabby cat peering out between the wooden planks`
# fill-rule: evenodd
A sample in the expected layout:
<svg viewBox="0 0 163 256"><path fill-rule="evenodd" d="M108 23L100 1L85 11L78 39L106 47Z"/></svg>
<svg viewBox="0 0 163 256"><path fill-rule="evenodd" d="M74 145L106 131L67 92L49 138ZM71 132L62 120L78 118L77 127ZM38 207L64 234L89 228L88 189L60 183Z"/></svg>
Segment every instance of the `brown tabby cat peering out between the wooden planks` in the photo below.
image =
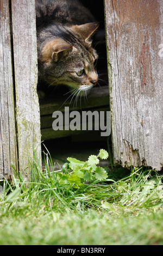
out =
<svg viewBox="0 0 163 256"><path fill-rule="evenodd" d="M87 95L98 81L91 38L99 23L79 0L35 0L35 6L39 81Z"/></svg>

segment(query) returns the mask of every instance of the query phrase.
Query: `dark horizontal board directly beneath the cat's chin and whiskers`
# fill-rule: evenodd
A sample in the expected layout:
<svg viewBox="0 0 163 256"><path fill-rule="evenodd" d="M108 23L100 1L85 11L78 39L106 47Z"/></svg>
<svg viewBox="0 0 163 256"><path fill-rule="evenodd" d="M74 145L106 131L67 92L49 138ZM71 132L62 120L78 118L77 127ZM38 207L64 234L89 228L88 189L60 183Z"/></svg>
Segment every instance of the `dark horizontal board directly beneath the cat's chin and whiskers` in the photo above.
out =
<svg viewBox="0 0 163 256"><path fill-rule="evenodd" d="M52 114L54 111L64 112L65 107L70 107L70 110L85 109L99 106L109 106L109 88L108 86L95 87L91 89L91 93L87 96L87 99L82 97L78 99L77 104L73 95L63 95L59 99L56 97L48 97L42 102L40 101L40 114L47 115ZM72 99L73 97L73 99ZM54 100L55 99L55 100ZM65 102L65 103L64 103Z"/></svg>

